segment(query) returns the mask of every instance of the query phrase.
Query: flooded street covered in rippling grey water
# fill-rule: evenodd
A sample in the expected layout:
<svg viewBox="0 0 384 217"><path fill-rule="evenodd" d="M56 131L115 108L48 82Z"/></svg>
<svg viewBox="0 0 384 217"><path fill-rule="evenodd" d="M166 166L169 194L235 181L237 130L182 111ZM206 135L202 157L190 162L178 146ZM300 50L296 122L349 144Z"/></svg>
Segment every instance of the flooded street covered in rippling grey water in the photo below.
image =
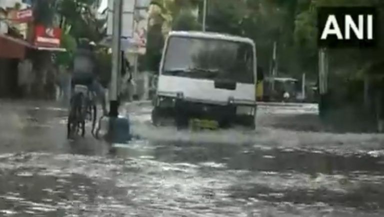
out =
<svg viewBox="0 0 384 217"><path fill-rule="evenodd" d="M124 108L140 139L107 144L66 140L53 102L0 102L0 216L384 216L384 135L322 132L316 105L198 132Z"/></svg>

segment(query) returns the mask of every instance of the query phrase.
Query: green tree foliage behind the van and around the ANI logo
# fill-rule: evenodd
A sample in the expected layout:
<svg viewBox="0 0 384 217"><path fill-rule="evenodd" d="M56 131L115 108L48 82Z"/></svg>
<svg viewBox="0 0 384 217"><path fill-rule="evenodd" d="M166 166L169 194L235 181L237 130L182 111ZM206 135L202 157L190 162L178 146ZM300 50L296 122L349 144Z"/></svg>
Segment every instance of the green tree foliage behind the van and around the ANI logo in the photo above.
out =
<svg viewBox="0 0 384 217"><path fill-rule="evenodd" d="M155 68L160 59L164 37L169 30L166 27L192 30L199 29L200 25L189 15L190 6L186 5L190 5L190 0L152 2L160 9L157 13L157 24L148 32L146 60ZM316 8L353 5L374 5L379 9L379 23L384 21L382 0L208 0L206 24L209 31L253 39L257 47L258 64L266 73L270 68L273 42L276 41L280 71L292 76L305 72L309 78L316 79ZM380 29L379 35L379 38L384 38L383 28ZM366 73L382 73L384 40L380 41L375 49L329 50L331 75L359 79Z"/></svg>

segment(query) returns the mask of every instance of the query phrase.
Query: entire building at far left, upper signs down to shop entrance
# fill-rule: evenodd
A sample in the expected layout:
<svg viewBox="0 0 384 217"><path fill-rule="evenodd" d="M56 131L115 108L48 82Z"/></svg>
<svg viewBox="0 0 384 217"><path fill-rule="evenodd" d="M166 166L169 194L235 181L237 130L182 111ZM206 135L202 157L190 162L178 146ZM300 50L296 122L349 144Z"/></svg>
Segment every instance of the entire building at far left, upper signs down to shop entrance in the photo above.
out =
<svg viewBox="0 0 384 217"><path fill-rule="evenodd" d="M37 23L30 2L0 0L0 97L47 98L51 54L65 50L60 48L61 30ZM22 67L27 62L32 66Z"/></svg>

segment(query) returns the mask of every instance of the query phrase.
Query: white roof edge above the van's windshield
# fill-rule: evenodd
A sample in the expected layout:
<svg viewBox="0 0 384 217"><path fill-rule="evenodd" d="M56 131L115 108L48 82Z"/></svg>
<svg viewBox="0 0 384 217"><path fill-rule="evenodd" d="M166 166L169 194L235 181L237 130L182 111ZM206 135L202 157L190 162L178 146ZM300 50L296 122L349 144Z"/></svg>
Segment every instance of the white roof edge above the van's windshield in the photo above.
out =
<svg viewBox="0 0 384 217"><path fill-rule="evenodd" d="M218 32L203 32L203 31L170 31L169 36L188 36L188 37L203 37L203 38L219 38L223 40L232 40L238 42L251 43L254 45L252 39L247 37L240 37L231 34L218 33Z"/></svg>

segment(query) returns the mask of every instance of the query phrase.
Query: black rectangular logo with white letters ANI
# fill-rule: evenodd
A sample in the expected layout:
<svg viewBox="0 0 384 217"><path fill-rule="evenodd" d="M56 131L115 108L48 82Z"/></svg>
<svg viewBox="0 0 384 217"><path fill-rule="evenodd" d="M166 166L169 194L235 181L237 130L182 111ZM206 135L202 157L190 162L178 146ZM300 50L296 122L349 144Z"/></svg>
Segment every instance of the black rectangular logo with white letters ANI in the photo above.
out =
<svg viewBox="0 0 384 217"><path fill-rule="evenodd" d="M375 47L376 20L375 7L318 7L317 44L328 48Z"/></svg>

